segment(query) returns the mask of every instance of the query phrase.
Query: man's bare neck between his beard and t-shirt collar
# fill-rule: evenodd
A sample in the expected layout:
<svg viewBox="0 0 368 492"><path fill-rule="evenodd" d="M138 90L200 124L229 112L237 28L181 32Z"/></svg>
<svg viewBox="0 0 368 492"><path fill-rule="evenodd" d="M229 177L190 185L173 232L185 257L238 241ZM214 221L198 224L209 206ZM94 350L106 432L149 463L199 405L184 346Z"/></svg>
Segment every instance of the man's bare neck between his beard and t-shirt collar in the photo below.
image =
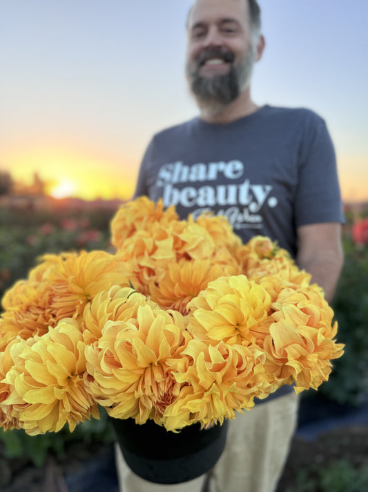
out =
<svg viewBox="0 0 368 492"><path fill-rule="evenodd" d="M227 104L221 111L211 113L206 108L200 108L200 118L207 123L230 123L244 116L248 116L259 109L259 106L251 100L249 87L238 98Z"/></svg>

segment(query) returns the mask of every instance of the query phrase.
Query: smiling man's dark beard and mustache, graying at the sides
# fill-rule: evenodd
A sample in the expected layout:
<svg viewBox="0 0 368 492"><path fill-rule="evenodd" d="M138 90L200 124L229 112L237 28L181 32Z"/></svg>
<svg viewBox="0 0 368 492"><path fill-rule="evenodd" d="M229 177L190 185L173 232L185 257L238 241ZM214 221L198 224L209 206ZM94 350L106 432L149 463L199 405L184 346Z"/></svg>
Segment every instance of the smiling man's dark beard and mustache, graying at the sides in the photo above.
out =
<svg viewBox="0 0 368 492"><path fill-rule="evenodd" d="M212 77L199 75L200 66L204 60L209 58L221 58L229 62L229 72L225 75L213 75ZM189 86L197 104L211 114L220 113L249 86L254 65L253 49L249 50L248 55L238 65L233 64L233 60L233 53L229 51L224 52L219 48L208 48L200 53L194 67L190 63L186 66Z"/></svg>

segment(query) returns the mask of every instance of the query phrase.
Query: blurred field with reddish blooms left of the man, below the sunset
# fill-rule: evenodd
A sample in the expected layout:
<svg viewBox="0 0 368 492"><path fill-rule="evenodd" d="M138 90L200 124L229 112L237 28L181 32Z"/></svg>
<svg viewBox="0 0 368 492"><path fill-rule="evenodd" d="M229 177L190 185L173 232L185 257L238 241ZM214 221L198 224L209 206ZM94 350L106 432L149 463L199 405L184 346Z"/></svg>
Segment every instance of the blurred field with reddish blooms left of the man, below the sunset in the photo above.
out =
<svg viewBox="0 0 368 492"><path fill-rule="evenodd" d="M44 253L105 249L115 210L0 208L0 297Z"/></svg>

